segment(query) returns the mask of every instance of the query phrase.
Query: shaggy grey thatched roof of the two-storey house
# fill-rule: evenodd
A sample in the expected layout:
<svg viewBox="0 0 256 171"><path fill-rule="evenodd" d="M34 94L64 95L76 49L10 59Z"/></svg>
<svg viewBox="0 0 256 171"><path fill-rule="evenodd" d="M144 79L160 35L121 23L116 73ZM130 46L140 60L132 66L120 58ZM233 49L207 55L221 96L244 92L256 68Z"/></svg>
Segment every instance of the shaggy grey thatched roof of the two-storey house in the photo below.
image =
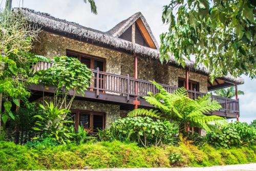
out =
<svg viewBox="0 0 256 171"><path fill-rule="evenodd" d="M81 26L74 22L68 22L64 19L55 18L48 13L36 12L28 8L14 8L13 11L17 13L22 13L29 23L35 25L36 27L42 28L42 30L51 31L57 34L65 35L70 38L76 38L80 41L87 41L112 49L126 51L128 53L136 53L142 57L149 57L153 59L159 58L159 50L157 49L144 47L139 44L134 44L131 41L118 38L118 36L125 31L126 27L129 27L129 25L132 24L132 22L134 22L136 18L138 19L140 17L148 33L152 35L152 38L154 38L155 41L155 37L153 36L150 27L147 25L145 18L140 12L132 15L126 20L123 20L121 23L119 23L108 32L102 32L99 30ZM158 45L156 44L156 46ZM172 57L169 60L169 64L180 67L176 64L175 59ZM185 68L201 74L210 74L209 70L205 66L198 65L195 68L194 62L189 60L186 60ZM244 83L243 78L235 78L231 75L221 77L220 79L237 84Z"/></svg>

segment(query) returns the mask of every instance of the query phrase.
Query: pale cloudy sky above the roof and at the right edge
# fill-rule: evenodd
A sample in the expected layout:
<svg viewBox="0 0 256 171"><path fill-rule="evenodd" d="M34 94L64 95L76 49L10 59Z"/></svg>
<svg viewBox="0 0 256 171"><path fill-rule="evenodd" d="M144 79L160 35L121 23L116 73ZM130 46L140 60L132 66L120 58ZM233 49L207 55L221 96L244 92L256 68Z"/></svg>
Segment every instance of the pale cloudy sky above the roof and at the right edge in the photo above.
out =
<svg viewBox="0 0 256 171"><path fill-rule="evenodd" d="M108 31L121 20L140 11L159 42L159 35L167 31L167 26L162 24L161 14L162 7L168 2L166 0L95 0L97 15L91 13L90 4L83 3L83 0L13 0L12 6L46 12L54 17L100 31ZM2 8L4 3L5 0L0 0ZM239 96L240 121L250 123L256 119L256 79L251 80L244 75L242 77L245 83L238 86L238 89L244 91L245 95Z"/></svg>

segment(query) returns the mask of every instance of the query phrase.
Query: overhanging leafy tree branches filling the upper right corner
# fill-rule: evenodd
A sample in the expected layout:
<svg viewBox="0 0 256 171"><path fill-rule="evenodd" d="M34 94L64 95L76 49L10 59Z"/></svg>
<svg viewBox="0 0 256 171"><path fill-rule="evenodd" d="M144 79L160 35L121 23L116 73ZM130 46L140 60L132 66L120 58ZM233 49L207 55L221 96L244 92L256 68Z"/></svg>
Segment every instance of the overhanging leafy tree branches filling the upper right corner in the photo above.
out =
<svg viewBox="0 0 256 171"><path fill-rule="evenodd" d="M211 80L229 73L255 78L255 11L253 0L171 0L162 14L169 32L160 36L160 60L174 57L184 67L194 55Z"/></svg>

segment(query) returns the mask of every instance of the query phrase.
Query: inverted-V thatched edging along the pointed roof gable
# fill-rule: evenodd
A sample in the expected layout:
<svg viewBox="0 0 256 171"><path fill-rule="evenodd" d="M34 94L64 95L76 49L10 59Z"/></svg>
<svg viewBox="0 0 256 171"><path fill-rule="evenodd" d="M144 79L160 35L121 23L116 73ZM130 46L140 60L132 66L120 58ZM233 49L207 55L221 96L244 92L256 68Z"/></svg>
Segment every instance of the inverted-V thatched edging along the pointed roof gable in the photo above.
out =
<svg viewBox="0 0 256 171"><path fill-rule="evenodd" d="M110 29L106 33L113 36L113 37L119 37L125 30L127 30L139 18L142 20L143 25L145 26L148 34L150 34L151 39L153 40L156 48L158 49L159 46L158 46L158 43L156 41L156 38L153 35L150 26L147 24L146 19L142 15L141 12L136 12L135 14L130 16L129 18L122 20L120 23L118 23L116 26L114 26L112 29Z"/></svg>

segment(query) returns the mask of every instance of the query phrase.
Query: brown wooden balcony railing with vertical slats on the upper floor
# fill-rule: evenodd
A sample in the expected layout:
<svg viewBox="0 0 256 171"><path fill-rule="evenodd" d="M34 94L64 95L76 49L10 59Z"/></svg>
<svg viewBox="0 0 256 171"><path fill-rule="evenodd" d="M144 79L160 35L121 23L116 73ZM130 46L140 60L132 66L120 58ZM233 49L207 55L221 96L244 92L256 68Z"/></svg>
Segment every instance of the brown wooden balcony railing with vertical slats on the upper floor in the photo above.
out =
<svg viewBox="0 0 256 171"><path fill-rule="evenodd" d="M49 69L52 63L39 61L34 66L34 71ZM111 73L102 72L99 70L92 70L94 73L93 83L89 87L91 90L95 90L96 94L99 95L100 92L117 94L125 96L127 101L130 97L143 97L146 96L148 92L153 94L158 93L159 90L156 86L146 80L135 79L129 75L122 76ZM173 93L177 87L167 86L165 84L160 84L168 93ZM137 90L137 91L136 91ZM191 99L197 99L198 97L203 97L205 93L188 90L188 96ZM224 114L239 114L239 100L223 98L215 95L211 95L210 102L216 100L222 106L219 110Z"/></svg>

